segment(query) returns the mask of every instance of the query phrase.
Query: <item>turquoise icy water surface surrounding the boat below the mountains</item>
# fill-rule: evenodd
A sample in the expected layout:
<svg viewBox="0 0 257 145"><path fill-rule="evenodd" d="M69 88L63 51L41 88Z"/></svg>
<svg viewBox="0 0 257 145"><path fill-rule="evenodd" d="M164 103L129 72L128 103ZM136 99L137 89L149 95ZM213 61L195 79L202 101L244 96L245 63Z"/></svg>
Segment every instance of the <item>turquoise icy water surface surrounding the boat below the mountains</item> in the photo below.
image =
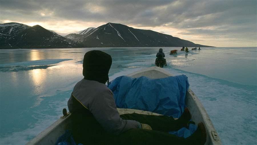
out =
<svg viewBox="0 0 257 145"><path fill-rule="evenodd" d="M93 49L112 56L113 80L154 66L159 47L0 50L0 144L26 144L59 119ZM164 69L188 76L222 144L257 144L257 48L163 49Z"/></svg>

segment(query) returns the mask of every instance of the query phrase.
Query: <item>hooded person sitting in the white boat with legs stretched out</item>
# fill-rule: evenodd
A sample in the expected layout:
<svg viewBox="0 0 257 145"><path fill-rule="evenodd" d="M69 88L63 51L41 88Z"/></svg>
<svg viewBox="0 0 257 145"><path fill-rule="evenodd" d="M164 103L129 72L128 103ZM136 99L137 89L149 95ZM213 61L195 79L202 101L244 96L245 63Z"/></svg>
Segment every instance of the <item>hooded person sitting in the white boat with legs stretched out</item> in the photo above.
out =
<svg viewBox="0 0 257 145"><path fill-rule="evenodd" d="M123 114L117 111L109 83L111 55L88 51L83 59L83 76L71 93L68 108L75 142L82 144L204 144L203 123L188 138L180 138L168 131L187 127L191 118L185 108L177 120L169 116Z"/></svg>

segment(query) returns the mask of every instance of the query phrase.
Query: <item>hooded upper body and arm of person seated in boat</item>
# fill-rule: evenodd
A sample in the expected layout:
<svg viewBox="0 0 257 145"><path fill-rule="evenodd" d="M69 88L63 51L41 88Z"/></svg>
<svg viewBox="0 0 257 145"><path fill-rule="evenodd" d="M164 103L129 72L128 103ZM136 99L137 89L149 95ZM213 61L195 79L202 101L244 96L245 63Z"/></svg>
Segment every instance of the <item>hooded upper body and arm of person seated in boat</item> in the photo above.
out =
<svg viewBox="0 0 257 145"><path fill-rule="evenodd" d="M74 138L80 143L101 144L121 132L141 127L139 122L119 116L113 93L105 85L109 83L111 63L111 56L103 51L89 51L84 56L84 78L75 85L68 101ZM85 140L85 136L89 139Z"/></svg>

